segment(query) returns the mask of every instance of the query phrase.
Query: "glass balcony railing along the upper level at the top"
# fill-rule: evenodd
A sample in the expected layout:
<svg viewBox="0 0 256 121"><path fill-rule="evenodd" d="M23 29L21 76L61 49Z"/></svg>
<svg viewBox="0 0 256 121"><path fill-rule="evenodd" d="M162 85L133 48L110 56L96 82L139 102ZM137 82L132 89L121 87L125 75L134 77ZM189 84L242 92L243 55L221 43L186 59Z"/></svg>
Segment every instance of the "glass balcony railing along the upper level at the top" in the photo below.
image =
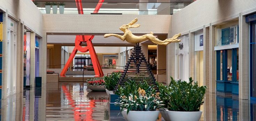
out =
<svg viewBox="0 0 256 121"><path fill-rule="evenodd" d="M181 0L182 1L182 0ZM45 3L47 1L35 0L34 3L42 13L46 13ZM103 2L101 9L97 14L123 14L123 15L171 15L192 1L186 0L184 3L177 2ZM60 2L50 2L58 4ZM64 14L78 14L75 2L63 2ZM98 2L82 2L83 13L93 14ZM51 5L50 13L53 13L53 5ZM59 6L57 5L57 13L59 14Z"/></svg>

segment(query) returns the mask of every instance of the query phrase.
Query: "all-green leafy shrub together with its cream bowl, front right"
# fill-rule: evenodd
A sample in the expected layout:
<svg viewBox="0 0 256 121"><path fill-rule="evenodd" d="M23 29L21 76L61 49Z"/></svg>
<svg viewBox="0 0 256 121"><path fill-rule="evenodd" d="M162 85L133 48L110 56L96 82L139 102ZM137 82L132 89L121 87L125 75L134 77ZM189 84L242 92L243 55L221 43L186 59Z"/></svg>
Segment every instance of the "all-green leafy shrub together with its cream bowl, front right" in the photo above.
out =
<svg viewBox="0 0 256 121"><path fill-rule="evenodd" d="M200 106L203 104L206 86L198 86L198 82L194 84L192 82L191 77L189 83L176 82L171 77L169 86L159 86L161 100L166 104L163 108L167 108L165 114L161 113L163 116L168 116L167 121L199 121L202 115Z"/></svg>

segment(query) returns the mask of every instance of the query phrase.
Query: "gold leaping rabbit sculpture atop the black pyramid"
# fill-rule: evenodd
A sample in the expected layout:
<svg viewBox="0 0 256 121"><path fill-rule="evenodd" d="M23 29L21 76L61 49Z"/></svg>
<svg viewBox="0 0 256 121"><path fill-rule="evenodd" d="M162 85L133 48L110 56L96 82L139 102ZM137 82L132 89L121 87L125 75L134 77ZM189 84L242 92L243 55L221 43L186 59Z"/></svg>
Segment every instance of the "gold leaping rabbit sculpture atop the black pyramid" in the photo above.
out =
<svg viewBox="0 0 256 121"><path fill-rule="evenodd" d="M168 45L170 43L177 43L177 42L181 41L180 39L177 39L179 36L181 36L181 33L179 33L177 35L174 35L170 39L165 39L163 41L156 38L153 35L152 31L150 32L150 34L145 34L145 35L142 35L142 36L135 36L135 35L133 35L133 33L131 33L131 31L128 28L137 28L137 27L139 27L140 26L139 24L135 24L137 21L138 21L138 18L135 18L129 24L122 25L119 28L121 31L123 31L125 33L123 36L118 35L118 34L105 34L104 38L110 37L110 36L115 36L115 37L121 39L122 41L126 40L128 43L133 43L133 44L141 43L141 42L146 41L146 40L150 40L153 43L158 44L158 45Z"/></svg>

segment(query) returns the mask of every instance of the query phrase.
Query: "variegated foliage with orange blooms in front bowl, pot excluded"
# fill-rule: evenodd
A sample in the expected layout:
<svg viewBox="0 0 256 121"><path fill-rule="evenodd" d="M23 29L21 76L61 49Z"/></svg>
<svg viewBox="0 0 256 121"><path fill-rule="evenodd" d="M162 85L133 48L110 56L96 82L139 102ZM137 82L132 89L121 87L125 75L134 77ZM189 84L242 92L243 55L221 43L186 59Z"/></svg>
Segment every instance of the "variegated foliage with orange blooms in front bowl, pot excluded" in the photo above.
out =
<svg viewBox="0 0 256 121"><path fill-rule="evenodd" d="M127 85L131 85L135 90L130 90L127 94ZM155 111L163 105L163 101L160 101L160 93L146 82L141 84L136 84L134 81L126 82L124 87L119 86L116 94L120 99L115 102L115 105L119 105L121 111L127 109L127 114L129 111Z"/></svg>

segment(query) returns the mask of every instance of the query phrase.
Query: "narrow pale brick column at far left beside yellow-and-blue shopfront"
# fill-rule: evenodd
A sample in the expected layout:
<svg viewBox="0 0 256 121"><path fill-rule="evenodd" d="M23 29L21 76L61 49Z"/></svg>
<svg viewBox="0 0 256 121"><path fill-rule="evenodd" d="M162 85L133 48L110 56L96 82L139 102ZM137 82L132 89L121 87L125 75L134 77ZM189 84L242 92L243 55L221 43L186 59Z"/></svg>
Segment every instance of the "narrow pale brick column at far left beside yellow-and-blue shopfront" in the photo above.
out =
<svg viewBox="0 0 256 121"><path fill-rule="evenodd" d="M3 42L2 42L2 99L6 99L7 93L7 12L3 13ZM3 101L2 105L6 105ZM2 115L6 113L3 111ZM3 119L2 119L3 120Z"/></svg>

